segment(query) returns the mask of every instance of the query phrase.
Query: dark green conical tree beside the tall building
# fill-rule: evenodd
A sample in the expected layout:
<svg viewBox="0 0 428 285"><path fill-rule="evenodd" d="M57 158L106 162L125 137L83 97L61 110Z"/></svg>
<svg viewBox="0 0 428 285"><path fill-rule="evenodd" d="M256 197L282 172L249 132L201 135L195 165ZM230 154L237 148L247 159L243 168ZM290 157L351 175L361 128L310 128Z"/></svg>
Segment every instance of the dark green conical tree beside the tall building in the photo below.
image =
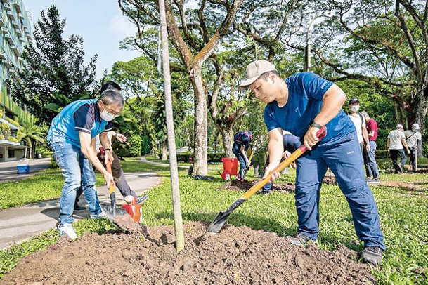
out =
<svg viewBox="0 0 428 285"><path fill-rule="evenodd" d="M85 66L82 38L71 35L63 39L64 27L65 20L60 19L56 6L48 8L46 15L41 11L34 25L33 41L22 53L25 65L9 81L13 98L45 124L50 124L56 112L41 107L63 105L63 96L74 100L84 91L93 95L96 84L97 55Z"/></svg>

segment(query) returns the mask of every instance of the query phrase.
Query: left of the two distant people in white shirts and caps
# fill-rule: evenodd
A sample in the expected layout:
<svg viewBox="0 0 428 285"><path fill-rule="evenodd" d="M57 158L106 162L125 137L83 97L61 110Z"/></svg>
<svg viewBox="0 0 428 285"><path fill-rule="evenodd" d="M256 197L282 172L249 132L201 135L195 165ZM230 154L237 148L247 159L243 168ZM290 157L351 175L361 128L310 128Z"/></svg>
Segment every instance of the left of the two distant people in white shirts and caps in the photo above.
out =
<svg viewBox="0 0 428 285"><path fill-rule="evenodd" d="M406 147L407 153L410 154L403 130L403 125L398 124L396 130L389 132L387 139L387 149L391 155L394 173L396 174L402 173L404 164L406 164L407 157L404 147ZM400 162L398 162L398 157L400 157Z"/></svg>

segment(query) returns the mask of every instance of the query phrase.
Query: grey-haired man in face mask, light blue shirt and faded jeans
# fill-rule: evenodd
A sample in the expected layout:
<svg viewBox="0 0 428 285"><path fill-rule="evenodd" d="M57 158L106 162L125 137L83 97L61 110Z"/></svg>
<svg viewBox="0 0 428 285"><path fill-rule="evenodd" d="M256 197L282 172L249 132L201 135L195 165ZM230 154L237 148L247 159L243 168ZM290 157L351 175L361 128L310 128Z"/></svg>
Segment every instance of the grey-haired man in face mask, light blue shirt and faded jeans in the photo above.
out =
<svg viewBox="0 0 428 285"><path fill-rule="evenodd" d="M100 142L105 150L105 161L112 161L111 143L107 132L111 131L112 120L119 116L123 106L122 94L110 89L104 91L99 100L77 100L70 103L51 123L47 139L64 177L58 218L58 231L61 235L67 234L72 239L77 237L72 227L74 220L72 214L77 190L81 185L91 211L91 218L101 216L92 165L103 174L108 186L113 177L97 157L94 147L95 137L100 134Z"/></svg>

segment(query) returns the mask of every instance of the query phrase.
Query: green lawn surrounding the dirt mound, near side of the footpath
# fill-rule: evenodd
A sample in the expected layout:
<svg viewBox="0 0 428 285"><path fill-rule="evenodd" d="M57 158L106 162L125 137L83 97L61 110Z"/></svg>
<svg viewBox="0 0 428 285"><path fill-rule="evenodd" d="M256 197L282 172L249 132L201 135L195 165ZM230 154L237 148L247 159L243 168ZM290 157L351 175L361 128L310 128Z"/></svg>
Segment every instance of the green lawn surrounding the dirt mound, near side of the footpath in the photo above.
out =
<svg viewBox="0 0 428 285"><path fill-rule="evenodd" d="M130 168L139 166L129 161ZM136 166L131 166L136 164ZM128 166L127 166L128 167ZM209 166L210 173L219 177L221 164ZM162 172L169 175L169 172ZM250 171L249 179L252 179ZM292 182L294 171L284 175L283 181ZM381 180L401 182L420 181L424 190L411 191L396 187L371 187L380 211L382 231L387 251L384 252L382 270L375 270L378 284L428 284L428 179L426 174L384 174ZM422 182L421 182L422 181ZM60 181L62 183L62 181ZM180 171L181 208L184 222L211 221L216 214L228 208L243 192L216 190L225 181L194 180L187 171ZM1 186L1 185L0 185ZM149 192L150 198L143 206L145 225L173 225L171 183L164 183ZM237 208L228 218L234 226L247 225L256 230L275 232L285 237L296 232L297 214L294 194L273 193L254 195ZM75 224L77 233L107 231L112 225L106 220L82 220ZM20 257L39 251L58 239L55 230L45 232L30 241L0 251L0 276L11 270ZM332 250L344 244L361 251L363 244L354 232L351 212L342 192L335 185L323 185L320 197L320 238L318 246ZM418 273L419 272L419 273Z"/></svg>

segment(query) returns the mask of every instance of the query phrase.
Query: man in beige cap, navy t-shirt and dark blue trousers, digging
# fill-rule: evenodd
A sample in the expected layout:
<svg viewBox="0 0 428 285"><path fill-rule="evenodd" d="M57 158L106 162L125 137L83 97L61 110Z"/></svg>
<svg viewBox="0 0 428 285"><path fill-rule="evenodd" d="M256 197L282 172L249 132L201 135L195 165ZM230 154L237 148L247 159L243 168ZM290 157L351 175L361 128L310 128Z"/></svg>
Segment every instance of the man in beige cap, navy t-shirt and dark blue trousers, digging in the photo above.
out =
<svg viewBox="0 0 428 285"><path fill-rule="evenodd" d="M268 128L270 164L265 177L278 166L283 156L283 130L300 138L309 150L297 160L295 245L318 238L320 188L328 168L351 208L357 236L363 240L362 258L368 263L382 263L384 237L373 194L365 183L363 157L356 128L342 110L346 95L339 86L310 72L279 77L275 66L256 60L247 67L240 90L250 88L265 102L264 120ZM318 141L316 133L325 126L327 135ZM279 177L275 172L271 180Z"/></svg>

